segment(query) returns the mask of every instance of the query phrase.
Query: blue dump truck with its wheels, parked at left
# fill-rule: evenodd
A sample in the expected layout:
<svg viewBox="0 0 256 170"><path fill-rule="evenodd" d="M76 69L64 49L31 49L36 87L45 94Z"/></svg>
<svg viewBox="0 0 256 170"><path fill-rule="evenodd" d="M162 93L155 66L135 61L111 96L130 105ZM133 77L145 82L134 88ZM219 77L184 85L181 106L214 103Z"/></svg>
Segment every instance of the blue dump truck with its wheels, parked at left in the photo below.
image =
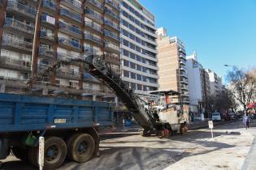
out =
<svg viewBox="0 0 256 170"><path fill-rule="evenodd" d="M112 125L111 104L0 93L0 159L12 151L37 165L44 136L46 169L59 168L66 157L85 162L98 155L98 125Z"/></svg>

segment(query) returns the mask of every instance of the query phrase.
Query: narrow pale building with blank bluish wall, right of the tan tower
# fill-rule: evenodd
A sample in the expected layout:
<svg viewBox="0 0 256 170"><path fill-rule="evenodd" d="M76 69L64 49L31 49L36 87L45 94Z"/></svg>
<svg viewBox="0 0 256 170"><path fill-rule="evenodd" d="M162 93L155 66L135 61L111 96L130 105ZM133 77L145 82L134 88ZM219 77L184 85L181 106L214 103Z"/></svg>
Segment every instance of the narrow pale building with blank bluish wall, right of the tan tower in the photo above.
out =
<svg viewBox="0 0 256 170"><path fill-rule="evenodd" d="M189 77L189 101L190 110L197 113L197 117L205 112L204 108L204 82L202 65L197 61L197 53L186 57Z"/></svg>

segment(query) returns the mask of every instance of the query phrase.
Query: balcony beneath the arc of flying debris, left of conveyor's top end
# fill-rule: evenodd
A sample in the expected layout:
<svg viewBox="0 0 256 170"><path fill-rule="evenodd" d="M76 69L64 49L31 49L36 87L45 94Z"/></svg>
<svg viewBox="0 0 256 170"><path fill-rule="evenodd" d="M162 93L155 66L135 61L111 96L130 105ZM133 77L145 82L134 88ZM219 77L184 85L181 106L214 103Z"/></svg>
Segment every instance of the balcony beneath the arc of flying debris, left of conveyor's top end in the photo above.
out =
<svg viewBox="0 0 256 170"><path fill-rule="evenodd" d="M76 71L76 70L61 67L57 70L57 77L63 78L63 79L80 80L81 73L79 71Z"/></svg>

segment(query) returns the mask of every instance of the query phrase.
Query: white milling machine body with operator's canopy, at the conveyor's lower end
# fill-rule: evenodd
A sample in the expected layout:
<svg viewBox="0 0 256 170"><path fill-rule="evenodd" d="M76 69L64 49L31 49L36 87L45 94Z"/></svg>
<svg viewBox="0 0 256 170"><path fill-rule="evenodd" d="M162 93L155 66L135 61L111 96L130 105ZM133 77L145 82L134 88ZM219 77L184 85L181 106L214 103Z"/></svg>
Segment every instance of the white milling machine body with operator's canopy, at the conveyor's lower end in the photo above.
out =
<svg viewBox="0 0 256 170"><path fill-rule="evenodd" d="M168 126L173 132L185 133L189 112L184 109L184 104L178 91L150 91L149 96L144 96L147 109L154 114L154 119L159 124ZM171 102L172 101L172 102Z"/></svg>

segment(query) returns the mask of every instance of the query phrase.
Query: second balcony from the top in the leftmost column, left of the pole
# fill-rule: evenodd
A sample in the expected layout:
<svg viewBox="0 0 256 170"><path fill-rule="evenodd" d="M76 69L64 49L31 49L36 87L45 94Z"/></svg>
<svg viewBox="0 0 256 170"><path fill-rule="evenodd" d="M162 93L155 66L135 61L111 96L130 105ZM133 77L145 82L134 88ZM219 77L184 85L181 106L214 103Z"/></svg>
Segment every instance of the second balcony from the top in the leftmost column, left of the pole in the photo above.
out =
<svg viewBox="0 0 256 170"><path fill-rule="evenodd" d="M24 36L33 36L34 27L26 23L18 21L16 19L7 18L4 24L5 30L15 32L18 34L23 34Z"/></svg>

